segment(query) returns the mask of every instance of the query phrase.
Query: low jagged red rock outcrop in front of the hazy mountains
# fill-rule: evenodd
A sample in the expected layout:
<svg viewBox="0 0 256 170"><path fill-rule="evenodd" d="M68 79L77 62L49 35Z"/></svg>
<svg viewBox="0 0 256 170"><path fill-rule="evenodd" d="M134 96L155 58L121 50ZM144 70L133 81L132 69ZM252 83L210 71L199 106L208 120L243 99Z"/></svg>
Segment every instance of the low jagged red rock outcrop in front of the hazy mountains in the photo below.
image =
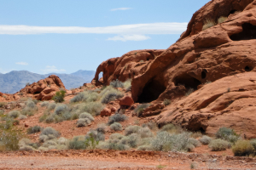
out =
<svg viewBox="0 0 256 170"><path fill-rule="evenodd" d="M21 94L38 100L49 100L52 99L60 88L65 89L61 79L55 75L51 75L45 79L39 80L38 82L34 82L25 88L22 88L20 92L17 92L14 95Z"/></svg>

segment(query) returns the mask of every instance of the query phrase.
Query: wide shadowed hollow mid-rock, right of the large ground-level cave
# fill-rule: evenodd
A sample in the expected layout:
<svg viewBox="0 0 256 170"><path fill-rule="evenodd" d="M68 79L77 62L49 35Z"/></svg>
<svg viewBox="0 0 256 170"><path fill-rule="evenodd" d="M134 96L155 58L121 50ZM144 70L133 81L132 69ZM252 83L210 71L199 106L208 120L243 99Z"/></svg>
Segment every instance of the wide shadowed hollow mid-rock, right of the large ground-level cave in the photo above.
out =
<svg viewBox="0 0 256 170"><path fill-rule="evenodd" d="M197 89L197 86L201 84L199 80L197 80L194 77L190 77L188 74L183 74L179 77L177 77L174 81L175 86L181 86L183 85L185 88L193 88Z"/></svg>

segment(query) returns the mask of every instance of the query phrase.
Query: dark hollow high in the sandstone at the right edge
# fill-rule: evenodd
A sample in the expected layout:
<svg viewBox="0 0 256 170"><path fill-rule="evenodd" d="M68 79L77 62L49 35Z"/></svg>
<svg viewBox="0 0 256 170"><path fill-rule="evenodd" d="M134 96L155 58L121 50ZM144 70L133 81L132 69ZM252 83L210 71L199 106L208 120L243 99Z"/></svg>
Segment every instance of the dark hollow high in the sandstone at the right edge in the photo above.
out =
<svg viewBox="0 0 256 170"><path fill-rule="evenodd" d="M241 32L230 36L232 41L256 39L256 26L253 26L250 23L244 23L241 27Z"/></svg>

